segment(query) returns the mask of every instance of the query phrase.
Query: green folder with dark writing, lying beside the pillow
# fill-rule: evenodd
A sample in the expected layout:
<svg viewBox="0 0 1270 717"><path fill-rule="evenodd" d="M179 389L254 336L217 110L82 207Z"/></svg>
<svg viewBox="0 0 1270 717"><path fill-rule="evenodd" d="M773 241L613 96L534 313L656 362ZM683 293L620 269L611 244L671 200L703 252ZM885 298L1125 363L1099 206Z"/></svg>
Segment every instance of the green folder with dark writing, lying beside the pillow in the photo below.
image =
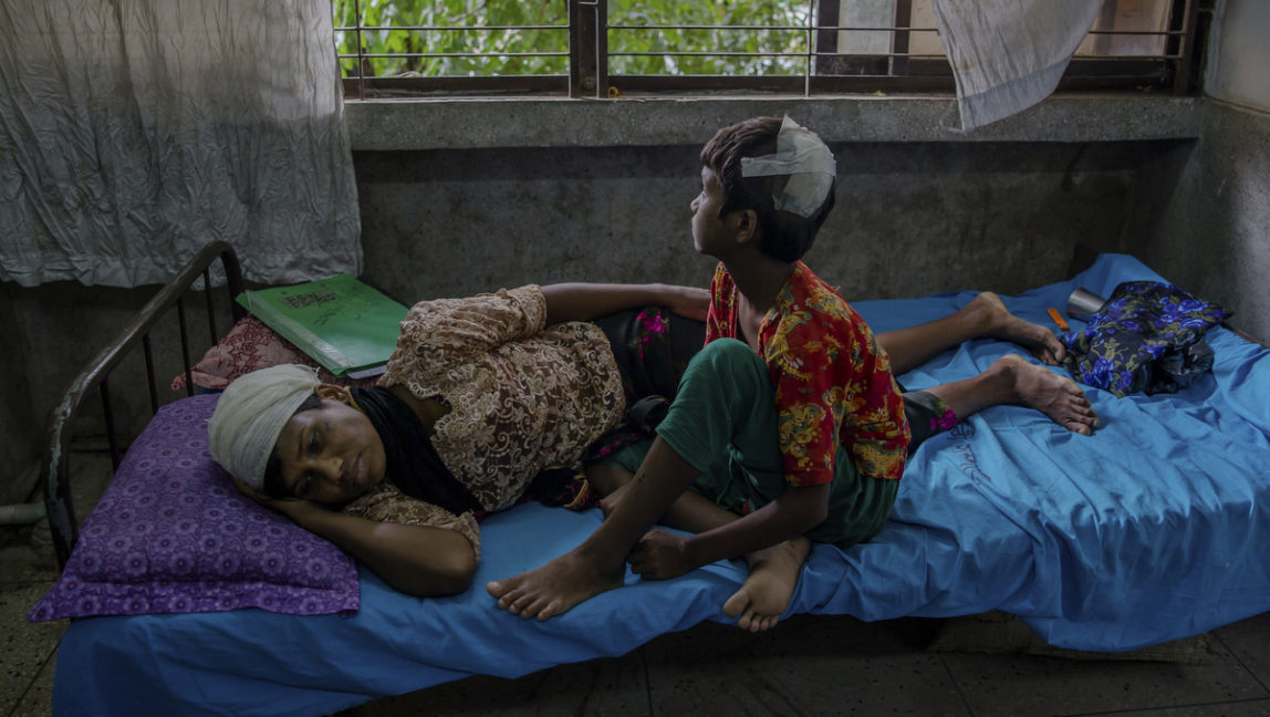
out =
<svg viewBox="0 0 1270 717"><path fill-rule="evenodd" d="M384 372L408 310L348 273L244 291L236 300L328 371L351 379Z"/></svg>

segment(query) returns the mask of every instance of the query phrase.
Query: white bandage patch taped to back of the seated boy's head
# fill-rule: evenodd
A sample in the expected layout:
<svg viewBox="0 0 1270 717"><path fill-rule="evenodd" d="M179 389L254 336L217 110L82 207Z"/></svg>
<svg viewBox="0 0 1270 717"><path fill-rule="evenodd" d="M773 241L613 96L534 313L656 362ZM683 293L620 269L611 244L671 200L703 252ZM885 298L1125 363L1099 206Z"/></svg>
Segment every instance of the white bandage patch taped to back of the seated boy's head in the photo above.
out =
<svg viewBox="0 0 1270 717"><path fill-rule="evenodd" d="M777 211L796 214L804 219L820 208L838 168L833 153L824 146L815 132L785 116L781 131L776 133L776 154L740 158L742 177L789 177L784 186L777 183L772 202Z"/></svg>

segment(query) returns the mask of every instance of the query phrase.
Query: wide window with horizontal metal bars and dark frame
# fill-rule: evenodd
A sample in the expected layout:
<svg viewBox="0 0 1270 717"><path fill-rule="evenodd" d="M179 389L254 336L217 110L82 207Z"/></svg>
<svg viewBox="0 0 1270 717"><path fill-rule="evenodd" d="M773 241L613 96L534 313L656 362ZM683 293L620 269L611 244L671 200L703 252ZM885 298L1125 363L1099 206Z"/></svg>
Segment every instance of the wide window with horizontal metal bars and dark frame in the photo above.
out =
<svg viewBox="0 0 1270 717"><path fill-rule="evenodd" d="M1059 90L1186 94L1212 0L1107 0ZM951 92L931 0L333 0L345 95Z"/></svg>

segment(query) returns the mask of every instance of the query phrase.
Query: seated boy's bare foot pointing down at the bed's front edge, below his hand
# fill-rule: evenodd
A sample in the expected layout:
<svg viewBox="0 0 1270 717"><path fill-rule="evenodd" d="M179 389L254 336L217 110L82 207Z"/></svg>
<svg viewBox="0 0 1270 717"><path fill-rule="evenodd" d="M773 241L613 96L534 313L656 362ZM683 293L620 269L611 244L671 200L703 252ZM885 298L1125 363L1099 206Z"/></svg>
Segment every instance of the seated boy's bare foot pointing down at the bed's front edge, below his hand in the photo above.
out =
<svg viewBox="0 0 1270 717"><path fill-rule="evenodd" d="M730 618L739 615L737 627L749 632L775 627L790 606L799 571L810 550L810 540L795 538L745 556L749 576L723 604L723 613Z"/></svg>

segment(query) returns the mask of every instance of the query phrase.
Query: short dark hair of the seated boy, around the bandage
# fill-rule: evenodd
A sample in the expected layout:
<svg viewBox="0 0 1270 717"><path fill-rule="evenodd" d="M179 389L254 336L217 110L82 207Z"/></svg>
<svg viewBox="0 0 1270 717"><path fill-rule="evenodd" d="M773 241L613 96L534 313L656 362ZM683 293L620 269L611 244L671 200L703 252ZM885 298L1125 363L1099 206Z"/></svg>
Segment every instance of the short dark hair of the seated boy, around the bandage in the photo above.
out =
<svg viewBox="0 0 1270 717"><path fill-rule="evenodd" d="M784 188L787 177L740 175L740 158L776 153L776 135L781 123L780 117L754 117L719 130L701 147L701 164L718 174L719 183L723 184L725 198L719 216L737 210L754 210L762 231L759 250L773 259L794 262L812 248L815 233L829 216L837 181L829 186L828 196L815 212L803 217L777 211L772 201L772 195Z"/></svg>

